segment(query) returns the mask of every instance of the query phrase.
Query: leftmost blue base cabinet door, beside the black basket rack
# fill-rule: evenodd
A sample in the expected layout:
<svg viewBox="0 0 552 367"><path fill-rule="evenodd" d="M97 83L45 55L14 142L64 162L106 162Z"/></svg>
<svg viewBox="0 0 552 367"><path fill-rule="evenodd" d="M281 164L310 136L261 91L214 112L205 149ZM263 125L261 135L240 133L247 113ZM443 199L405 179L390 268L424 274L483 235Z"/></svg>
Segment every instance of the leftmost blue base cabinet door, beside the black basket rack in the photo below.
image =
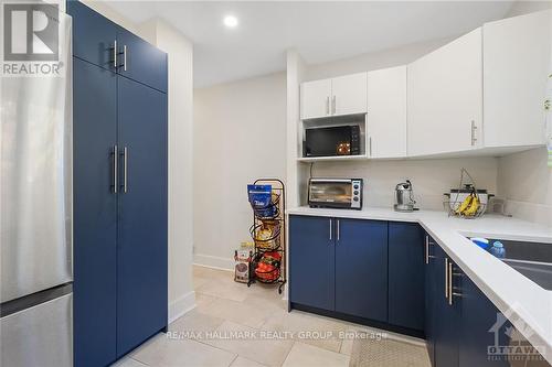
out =
<svg viewBox="0 0 552 367"><path fill-rule="evenodd" d="M335 228L332 218L290 216L289 300L333 311Z"/></svg>

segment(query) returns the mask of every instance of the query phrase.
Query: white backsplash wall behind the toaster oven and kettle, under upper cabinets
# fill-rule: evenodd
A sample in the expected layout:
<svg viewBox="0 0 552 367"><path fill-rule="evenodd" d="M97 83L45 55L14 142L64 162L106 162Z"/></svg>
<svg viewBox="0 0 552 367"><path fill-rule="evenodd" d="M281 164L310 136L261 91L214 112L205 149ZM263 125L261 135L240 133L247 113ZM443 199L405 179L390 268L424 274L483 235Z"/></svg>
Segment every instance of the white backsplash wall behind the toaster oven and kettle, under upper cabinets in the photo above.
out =
<svg viewBox="0 0 552 367"><path fill-rule="evenodd" d="M317 162L312 176L364 180L364 206L392 207L395 185L412 181L417 206L443 209L443 194L459 186L460 169L476 180L478 188L497 192L497 159L461 158L365 162Z"/></svg>

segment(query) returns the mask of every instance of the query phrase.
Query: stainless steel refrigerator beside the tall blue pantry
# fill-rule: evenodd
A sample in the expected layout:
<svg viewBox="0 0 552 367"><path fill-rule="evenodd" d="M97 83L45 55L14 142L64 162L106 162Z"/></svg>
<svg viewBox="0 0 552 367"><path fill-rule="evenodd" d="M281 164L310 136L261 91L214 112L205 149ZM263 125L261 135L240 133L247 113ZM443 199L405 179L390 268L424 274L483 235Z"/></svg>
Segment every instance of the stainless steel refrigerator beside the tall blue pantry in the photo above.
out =
<svg viewBox="0 0 552 367"><path fill-rule="evenodd" d="M71 18L57 76L0 79L1 366L72 366Z"/></svg>

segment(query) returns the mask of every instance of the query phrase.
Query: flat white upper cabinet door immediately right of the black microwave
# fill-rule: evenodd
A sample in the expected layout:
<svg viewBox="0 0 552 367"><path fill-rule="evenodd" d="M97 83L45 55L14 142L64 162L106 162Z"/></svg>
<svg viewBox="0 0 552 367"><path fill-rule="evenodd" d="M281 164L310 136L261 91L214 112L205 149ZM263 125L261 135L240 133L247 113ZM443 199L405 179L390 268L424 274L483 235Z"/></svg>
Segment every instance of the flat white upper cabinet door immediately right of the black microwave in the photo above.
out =
<svg viewBox="0 0 552 367"><path fill-rule="evenodd" d="M406 66L368 73L368 153L406 156Z"/></svg>

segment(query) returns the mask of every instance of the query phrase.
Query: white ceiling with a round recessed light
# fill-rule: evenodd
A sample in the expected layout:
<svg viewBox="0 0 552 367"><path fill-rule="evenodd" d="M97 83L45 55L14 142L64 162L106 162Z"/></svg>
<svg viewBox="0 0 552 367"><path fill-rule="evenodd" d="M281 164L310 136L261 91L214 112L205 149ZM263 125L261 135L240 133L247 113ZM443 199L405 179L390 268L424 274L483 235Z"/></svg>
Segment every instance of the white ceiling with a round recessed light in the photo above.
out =
<svg viewBox="0 0 552 367"><path fill-rule="evenodd" d="M468 32L512 1L114 1L135 22L160 17L194 44L194 85L284 71L295 47L309 64ZM236 29L222 19L238 18Z"/></svg>

